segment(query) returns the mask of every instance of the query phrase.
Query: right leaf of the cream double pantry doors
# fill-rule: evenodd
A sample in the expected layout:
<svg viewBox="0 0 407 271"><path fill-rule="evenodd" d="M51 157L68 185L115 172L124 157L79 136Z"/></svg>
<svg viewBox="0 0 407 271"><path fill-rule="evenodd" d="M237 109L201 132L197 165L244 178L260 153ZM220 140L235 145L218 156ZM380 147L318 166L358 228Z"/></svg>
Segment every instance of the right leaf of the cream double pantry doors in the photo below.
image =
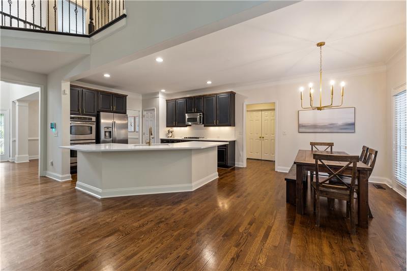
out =
<svg viewBox="0 0 407 271"><path fill-rule="evenodd" d="M261 111L261 159L274 160L274 110Z"/></svg>

